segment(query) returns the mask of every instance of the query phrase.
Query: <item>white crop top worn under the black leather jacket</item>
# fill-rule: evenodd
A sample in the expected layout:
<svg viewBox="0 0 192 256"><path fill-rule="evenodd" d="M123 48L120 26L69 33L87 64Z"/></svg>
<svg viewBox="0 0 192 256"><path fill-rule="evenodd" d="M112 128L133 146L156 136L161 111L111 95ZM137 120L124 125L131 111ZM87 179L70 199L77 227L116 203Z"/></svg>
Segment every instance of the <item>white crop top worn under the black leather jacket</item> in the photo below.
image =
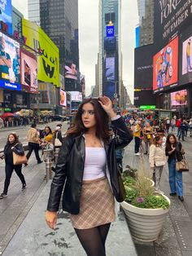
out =
<svg viewBox="0 0 192 256"><path fill-rule="evenodd" d="M105 148L85 148L83 180L99 179L105 176L103 167L107 157Z"/></svg>

